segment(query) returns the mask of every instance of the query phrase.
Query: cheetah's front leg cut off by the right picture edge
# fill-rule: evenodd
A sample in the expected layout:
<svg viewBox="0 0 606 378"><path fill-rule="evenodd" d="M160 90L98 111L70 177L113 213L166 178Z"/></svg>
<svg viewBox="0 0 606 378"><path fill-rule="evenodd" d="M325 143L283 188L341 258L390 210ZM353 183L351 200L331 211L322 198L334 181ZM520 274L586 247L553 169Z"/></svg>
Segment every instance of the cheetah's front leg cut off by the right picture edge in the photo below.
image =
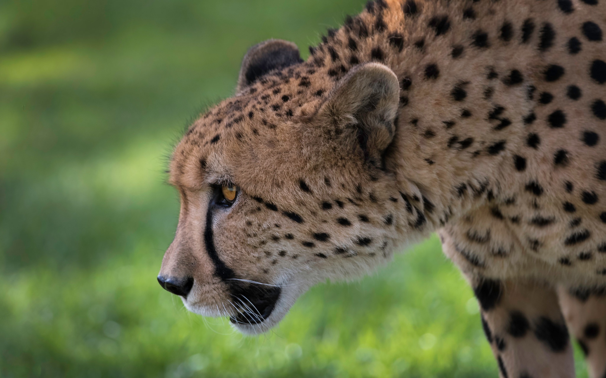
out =
<svg viewBox="0 0 606 378"><path fill-rule="evenodd" d="M562 313L585 354L592 378L606 378L606 295L586 290L558 290Z"/></svg>

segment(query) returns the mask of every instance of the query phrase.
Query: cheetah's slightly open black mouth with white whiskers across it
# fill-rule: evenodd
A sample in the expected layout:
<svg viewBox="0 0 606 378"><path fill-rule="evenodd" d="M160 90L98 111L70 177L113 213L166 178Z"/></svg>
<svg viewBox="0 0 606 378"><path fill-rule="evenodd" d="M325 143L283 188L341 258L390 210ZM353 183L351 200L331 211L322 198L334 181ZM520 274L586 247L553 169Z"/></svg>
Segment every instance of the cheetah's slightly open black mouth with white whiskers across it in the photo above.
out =
<svg viewBox="0 0 606 378"><path fill-rule="evenodd" d="M276 286L232 287L231 302L238 314L230 316L230 322L235 325L255 325L264 322L276 308L281 293L281 288Z"/></svg>

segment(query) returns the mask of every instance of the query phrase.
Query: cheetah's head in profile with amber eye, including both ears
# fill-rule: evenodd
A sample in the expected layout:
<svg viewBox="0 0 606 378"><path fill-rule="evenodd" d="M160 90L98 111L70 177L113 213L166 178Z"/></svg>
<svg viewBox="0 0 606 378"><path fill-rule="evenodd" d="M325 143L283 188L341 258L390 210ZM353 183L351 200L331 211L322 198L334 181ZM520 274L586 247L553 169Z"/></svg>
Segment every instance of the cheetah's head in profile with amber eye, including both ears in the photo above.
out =
<svg viewBox="0 0 606 378"><path fill-rule="evenodd" d="M398 79L361 65L318 79L318 98L301 90L305 70L289 42L251 49L236 97L198 119L171 161L181 213L158 281L243 333L276 325L311 285L385 261L402 232L386 161ZM286 100L292 116L270 110Z"/></svg>

